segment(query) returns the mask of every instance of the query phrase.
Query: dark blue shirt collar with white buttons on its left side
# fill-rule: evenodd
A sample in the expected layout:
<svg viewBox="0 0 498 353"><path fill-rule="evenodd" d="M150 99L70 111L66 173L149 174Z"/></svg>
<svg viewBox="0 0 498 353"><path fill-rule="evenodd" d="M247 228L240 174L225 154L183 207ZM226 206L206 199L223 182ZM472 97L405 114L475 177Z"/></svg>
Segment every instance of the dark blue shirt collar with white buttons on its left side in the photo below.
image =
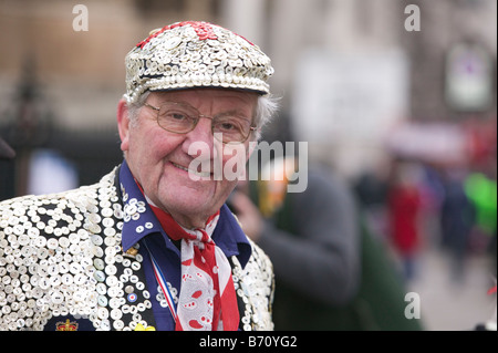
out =
<svg viewBox="0 0 498 353"><path fill-rule="evenodd" d="M142 238L153 232L167 233L147 204L142 191L135 183L126 160L120 168L118 183L123 199L123 230L122 246L127 251ZM251 256L251 245L240 228L237 219L229 208L224 205L220 209L218 225L212 233L212 240L224 251L227 258L236 256L242 268ZM166 243L169 243L166 242Z"/></svg>

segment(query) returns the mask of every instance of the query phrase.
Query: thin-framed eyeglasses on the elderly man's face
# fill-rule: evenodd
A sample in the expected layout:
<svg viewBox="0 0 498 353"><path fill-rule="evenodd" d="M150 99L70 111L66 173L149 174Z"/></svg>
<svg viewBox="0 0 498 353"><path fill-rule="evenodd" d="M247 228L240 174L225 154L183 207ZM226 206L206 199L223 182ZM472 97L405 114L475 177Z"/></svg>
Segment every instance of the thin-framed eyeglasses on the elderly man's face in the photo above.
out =
<svg viewBox="0 0 498 353"><path fill-rule="evenodd" d="M249 120L232 112L211 117L200 114L186 103L166 102L159 107L145 103L145 106L157 112L157 124L162 128L175 134L187 134L197 126L201 117L209 118L212 135L224 144L243 143L257 128Z"/></svg>

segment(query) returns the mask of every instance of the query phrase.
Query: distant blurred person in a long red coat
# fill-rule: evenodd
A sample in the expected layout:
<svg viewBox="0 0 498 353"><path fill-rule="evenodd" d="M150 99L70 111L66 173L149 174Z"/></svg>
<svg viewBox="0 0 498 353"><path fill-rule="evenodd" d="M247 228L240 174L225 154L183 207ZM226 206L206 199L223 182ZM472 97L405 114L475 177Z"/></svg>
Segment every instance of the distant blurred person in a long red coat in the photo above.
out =
<svg viewBox="0 0 498 353"><path fill-rule="evenodd" d="M401 259L403 274L407 281L416 276L416 258L421 241L422 198L417 184L418 172L413 163L395 160L387 195L390 239Z"/></svg>

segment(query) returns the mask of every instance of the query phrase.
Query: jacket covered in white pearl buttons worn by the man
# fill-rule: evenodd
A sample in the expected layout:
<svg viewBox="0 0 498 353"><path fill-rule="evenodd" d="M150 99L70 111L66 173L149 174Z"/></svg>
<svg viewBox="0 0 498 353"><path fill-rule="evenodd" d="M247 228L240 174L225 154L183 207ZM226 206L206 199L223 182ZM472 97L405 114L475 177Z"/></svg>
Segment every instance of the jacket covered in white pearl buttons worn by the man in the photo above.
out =
<svg viewBox="0 0 498 353"><path fill-rule="evenodd" d="M97 184L0 203L0 331L153 330L143 257L123 251L117 168ZM242 330L272 330L273 272L231 257Z"/></svg>

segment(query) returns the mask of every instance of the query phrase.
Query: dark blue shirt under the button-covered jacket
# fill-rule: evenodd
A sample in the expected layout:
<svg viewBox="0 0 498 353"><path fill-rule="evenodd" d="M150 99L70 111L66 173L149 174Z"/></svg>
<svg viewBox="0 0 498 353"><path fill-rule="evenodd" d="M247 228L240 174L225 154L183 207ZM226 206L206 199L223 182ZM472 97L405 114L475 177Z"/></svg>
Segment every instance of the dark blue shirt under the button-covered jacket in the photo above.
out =
<svg viewBox="0 0 498 353"><path fill-rule="evenodd" d="M175 321L169 309L163 308L156 299L158 283L144 241L146 241L147 248L158 262L166 281L177 290L177 298L181 277L180 251L168 237L167 229L163 229L148 206L126 162L123 162L120 169L120 184L125 215L122 230L123 250L127 251L134 245L139 245L139 253L144 258L142 266L145 271L146 287L151 293L156 330L174 331ZM131 214L134 216L129 217ZM220 209L218 225L211 238L228 259L236 256L242 268L247 264L251 256L251 246L226 205Z"/></svg>

